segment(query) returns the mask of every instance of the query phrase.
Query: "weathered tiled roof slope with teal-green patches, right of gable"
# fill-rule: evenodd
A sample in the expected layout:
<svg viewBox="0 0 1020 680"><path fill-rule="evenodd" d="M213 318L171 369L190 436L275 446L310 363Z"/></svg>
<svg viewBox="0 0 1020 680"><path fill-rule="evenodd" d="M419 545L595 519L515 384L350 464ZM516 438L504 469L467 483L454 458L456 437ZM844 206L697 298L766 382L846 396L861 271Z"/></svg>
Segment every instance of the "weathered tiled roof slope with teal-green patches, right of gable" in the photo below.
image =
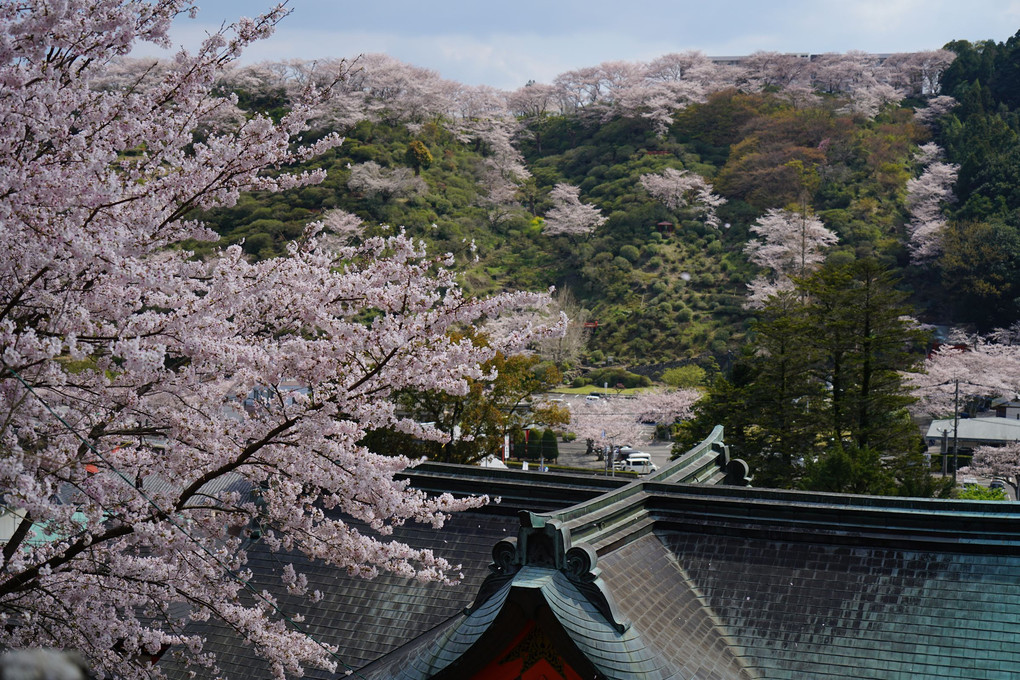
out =
<svg viewBox="0 0 1020 680"><path fill-rule="evenodd" d="M1020 556L666 531L761 678L1016 677Z"/></svg>

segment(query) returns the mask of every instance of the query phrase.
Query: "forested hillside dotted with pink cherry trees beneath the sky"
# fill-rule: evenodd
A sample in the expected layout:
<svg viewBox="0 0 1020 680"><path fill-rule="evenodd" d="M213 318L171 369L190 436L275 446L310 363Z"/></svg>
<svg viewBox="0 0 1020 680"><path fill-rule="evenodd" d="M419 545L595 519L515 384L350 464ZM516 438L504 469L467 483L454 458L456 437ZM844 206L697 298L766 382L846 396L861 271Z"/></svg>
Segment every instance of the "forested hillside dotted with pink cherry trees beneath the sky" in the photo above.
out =
<svg viewBox="0 0 1020 680"><path fill-rule="evenodd" d="M242 114L279 115L342 71L314 135L346 141L308 164L327 171L322 184L196 216L256 259L326 217L345 239L406 229L452 253L474 293L566 290L594 330L575 363L728 365L755 301L807 272L763 238L797 219L835 237L812 267L874 258L922 320L1008 325L1020 278L1016 43L884 61L682 53L514 93L379 55L246 67L221 84ZM702 198L691 185L673 200L646 188L667 171L701 181ZM571 210L594 218L572 224Z"/></svg>

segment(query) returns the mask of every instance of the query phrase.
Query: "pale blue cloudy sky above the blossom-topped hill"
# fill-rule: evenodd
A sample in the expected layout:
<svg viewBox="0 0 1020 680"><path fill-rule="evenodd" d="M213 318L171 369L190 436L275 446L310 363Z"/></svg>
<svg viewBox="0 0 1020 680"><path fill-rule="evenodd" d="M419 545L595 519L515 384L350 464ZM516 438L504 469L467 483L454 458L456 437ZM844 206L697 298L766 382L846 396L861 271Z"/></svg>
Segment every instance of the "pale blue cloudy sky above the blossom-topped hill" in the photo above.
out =
<svg viewBox="0 0 1020 680"><path fill-rule="evenodd" d="M223 20L269 0L199 0L174 41L194 47ZM912 52L951 40L1005 41L1020 0L291 0L293 12L245 61L381 52L466 85L513 90L529 80L697 49ZM151 52L149 52L151 53Z"/></svg>

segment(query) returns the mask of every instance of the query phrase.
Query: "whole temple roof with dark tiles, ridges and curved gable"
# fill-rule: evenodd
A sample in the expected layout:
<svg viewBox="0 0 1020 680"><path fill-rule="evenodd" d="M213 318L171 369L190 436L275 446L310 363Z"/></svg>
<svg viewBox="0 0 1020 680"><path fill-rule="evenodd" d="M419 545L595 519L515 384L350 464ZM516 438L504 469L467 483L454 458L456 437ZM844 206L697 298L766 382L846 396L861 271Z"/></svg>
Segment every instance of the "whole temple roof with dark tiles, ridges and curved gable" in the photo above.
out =
<svg viewBox="0 0 1020 680"><path fill-rule="evenodd" d="M419 488L504 499L395 532L462 563L460 587L284 556L325 599L280 604L362 678L470 678L510 659L527 621L578 677L990 680L1020 667L1020 506L711 483L746 479L736 463L716 440L629 482L424 466L408 473ZM283 564L252 546L259 587L280 590ZM208 632L228 676L261 677L226 631Z"/></svg>

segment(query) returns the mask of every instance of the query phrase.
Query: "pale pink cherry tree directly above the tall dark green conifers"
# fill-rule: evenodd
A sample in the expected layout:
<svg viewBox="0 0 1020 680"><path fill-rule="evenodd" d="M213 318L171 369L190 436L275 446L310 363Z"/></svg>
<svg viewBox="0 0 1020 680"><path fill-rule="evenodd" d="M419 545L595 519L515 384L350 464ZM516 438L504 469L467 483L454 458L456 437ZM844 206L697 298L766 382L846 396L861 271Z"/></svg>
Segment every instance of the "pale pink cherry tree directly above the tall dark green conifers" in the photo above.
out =
<svg viewBox="0 0 1020 680"><path fill-rule="evenodd" d="M803 276L825 259L824 249L838 241L834 231L812 215L772 208L751 225L760 239L748 242L744 252L768 269L748 284L749 306L761 307L770 296L790 291L792 276Z"/></svg>

